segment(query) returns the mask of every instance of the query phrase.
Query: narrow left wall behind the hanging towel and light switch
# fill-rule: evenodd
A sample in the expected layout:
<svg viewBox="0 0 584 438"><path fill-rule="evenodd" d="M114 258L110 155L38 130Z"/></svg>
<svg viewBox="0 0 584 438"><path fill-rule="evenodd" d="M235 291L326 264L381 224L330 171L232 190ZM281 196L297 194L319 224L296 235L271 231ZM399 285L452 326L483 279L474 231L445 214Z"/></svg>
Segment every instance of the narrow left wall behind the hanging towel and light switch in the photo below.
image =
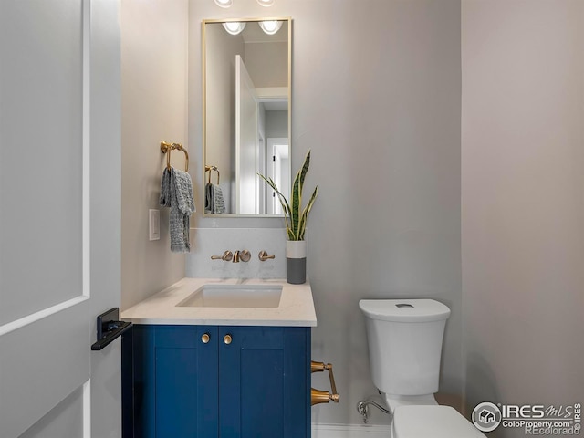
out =
<svg viewBox="0 0 584 438"><path fill-rule="evenodd" d="M183 143L186 121L187 0L124 0L121 27L121 308L184 276L170 251L168 209L159 207L166 157L160 142ZM172 152L183 169L183 152ZM148 240L148 210L161 210L161 239Z"/></svg>

